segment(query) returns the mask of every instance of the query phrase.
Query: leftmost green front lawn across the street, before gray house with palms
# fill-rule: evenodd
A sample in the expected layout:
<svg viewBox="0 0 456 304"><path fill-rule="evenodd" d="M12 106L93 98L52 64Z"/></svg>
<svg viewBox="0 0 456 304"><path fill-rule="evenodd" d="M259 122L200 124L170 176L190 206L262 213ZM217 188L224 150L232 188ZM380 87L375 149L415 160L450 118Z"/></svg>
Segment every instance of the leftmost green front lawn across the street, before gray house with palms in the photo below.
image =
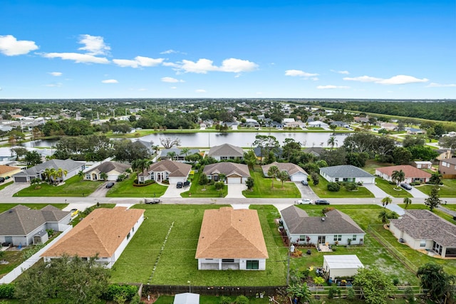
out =
<svg viewBox="0 0 456 304"><path fill-rule="evenodd" d="M35 189L35 185L31 185L14 194L14 196L71 196L83 197L94 192L103 182L84 181L83 177L78 175L71 177L61 186L52 186L42 183L40 189Z"/></svg>

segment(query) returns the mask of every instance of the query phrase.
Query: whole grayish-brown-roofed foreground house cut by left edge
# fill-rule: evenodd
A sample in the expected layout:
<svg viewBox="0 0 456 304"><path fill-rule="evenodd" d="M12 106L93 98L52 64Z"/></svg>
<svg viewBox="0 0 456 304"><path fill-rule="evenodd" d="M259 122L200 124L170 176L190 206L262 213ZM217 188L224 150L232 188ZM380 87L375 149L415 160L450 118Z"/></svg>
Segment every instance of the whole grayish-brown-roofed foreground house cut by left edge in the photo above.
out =
<svg viewBox="0 0 456 304"><path fill-rule="evenodd" d="M46 243L46 229L64 231L70 221L71 213L55 206L48 205L38 210L16 205L0 214L0 243L13 246Z"/></svg>

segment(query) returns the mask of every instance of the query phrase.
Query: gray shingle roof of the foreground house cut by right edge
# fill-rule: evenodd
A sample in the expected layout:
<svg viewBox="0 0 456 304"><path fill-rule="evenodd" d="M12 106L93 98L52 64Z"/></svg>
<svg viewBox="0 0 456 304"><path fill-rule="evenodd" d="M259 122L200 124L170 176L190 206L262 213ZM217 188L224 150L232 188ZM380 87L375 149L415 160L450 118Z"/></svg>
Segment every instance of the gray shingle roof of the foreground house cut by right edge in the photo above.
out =
<svg viewBox="0 0 456 304"><path fill-rule="evenodd" d="M433 240L445 247L456 246L456 226L429 210L406 210L402 219L390 224L415 240Z"/></svg>

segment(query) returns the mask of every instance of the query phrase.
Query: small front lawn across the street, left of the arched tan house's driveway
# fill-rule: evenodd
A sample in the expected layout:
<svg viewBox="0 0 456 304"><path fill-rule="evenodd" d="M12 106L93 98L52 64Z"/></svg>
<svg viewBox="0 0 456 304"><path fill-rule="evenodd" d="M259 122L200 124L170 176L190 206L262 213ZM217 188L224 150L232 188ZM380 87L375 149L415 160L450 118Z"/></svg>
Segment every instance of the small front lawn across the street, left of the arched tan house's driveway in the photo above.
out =
<svg viewBox="0 0 456 304"><path fill-rule="evenodd" d="M133 187L136 173L130 174L128 179L122 182L115 182L114 186L108 190L106 197L159 197L162 196L167 187L160 184L148 184L144 187Z"/></svg>

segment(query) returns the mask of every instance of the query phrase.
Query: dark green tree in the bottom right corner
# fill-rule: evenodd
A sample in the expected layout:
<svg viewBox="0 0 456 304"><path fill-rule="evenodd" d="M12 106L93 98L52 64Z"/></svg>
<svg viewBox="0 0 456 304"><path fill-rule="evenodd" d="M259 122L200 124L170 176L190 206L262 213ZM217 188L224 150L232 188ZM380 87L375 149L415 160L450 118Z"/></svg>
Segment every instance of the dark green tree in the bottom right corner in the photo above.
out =
<svg viewBox="0 0 456 304"><path fill-rule="evenodd" d="M443 266L426 263L418 268L417 276L421 280L421 287L427 290L427 295L436 303L445 303L455 296L452 285L455 284L456 276L445 273Z"/></svg>

